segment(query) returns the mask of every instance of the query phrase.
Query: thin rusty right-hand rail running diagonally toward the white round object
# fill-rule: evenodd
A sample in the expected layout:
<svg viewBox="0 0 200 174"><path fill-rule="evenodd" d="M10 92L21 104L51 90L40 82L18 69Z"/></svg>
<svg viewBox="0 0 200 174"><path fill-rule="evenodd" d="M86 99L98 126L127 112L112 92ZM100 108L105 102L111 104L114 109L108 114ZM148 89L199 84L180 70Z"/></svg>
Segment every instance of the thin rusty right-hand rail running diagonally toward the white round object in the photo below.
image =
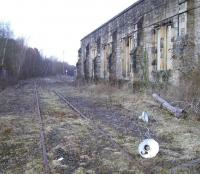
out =
<svg viewBox="0 0 200 174"><path fill-rule="evenodd" d="M144 164L142 164L140 161L137 161L135 159L135 156L130 153L125 147L123 147L122 145L120 145L119 143L117 143L114 138L105 130L103 130L101 128L101 126L99 126L98 124L96 124L92 119L90 119L89 117L87 117L84 113L82 113L77 107L75 107L66 97L64 97L62 94L60 94L59 92L53 90L54 94L57 95L62 101L64 101L64 103L66 105L68 105L73 111L75 111L76 113L78 113L78 115L87 120L95 129L97 132L99 132L100 134L102 134L113 146L115 146L119 151L121 151L128 160L132 161L134 163L135 166L138 167L138 169L140 169L141 171L147 171L148 169L144 166ZM146 172L144 172L146 173Z"/></svg>

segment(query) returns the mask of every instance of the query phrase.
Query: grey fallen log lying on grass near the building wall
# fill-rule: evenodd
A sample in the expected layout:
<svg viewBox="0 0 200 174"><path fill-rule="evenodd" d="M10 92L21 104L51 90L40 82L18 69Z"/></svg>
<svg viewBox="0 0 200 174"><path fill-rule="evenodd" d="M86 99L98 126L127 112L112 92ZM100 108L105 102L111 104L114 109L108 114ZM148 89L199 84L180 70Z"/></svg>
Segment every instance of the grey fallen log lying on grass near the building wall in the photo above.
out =
<svg viewBox="0 0 200 174"><path fill-rule="evenodd" d="M161 98L158 94L153 94L152 96L157 102L159 102L161 104L161 107L167 109L170 113L175 115L177 118L180 118L185 113L185 111L183 109L172 106L166 100Z"/></svg>

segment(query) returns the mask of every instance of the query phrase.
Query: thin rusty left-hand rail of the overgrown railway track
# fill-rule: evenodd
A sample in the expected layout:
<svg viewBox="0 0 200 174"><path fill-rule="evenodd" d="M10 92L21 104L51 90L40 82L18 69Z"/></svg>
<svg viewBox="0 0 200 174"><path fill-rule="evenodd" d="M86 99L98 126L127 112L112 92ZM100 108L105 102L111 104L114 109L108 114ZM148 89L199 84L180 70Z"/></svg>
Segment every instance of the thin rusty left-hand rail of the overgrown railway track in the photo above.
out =
<svg viewBox="0 0 200 174"><path fill-rule="evenodd" d="M44 120L41 115L40 111L40 104L39 104L39 95L38 95L38 89L37 84L34 82L34 91L35 91L35 100L36 100L36 112L39 117L40 121L40 143L42 146L42 157L43 157L43 165L44 165L44 173L50 174L50 167L47 157L47 149L46 149L46 143L45 143L45 131L44 131Z"/></svg>

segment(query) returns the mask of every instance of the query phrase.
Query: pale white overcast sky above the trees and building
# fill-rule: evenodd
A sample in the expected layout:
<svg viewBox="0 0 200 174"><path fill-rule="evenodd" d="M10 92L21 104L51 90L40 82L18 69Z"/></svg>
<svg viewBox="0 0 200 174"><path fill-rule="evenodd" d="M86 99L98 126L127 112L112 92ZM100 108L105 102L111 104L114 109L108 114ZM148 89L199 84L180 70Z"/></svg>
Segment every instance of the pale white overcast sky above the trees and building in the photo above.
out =
<svg viewBox="0 0 200 174"><path fill-rule="evenodd" d="M0 21L44 55L75 65L80 40L136 1L0 0Z"/></svg>

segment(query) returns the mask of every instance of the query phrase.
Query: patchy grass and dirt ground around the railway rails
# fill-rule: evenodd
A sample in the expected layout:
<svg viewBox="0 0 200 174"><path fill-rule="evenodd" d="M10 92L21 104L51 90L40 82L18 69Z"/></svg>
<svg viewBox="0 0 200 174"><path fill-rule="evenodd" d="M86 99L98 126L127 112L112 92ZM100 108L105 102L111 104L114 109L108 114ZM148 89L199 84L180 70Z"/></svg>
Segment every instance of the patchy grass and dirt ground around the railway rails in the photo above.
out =
<svg viewBox="0 0 200 174"><path fill-rule="evenodd" d="M145 92L133 94L106 84L78 86L64 77L52 77L23 81L0 93L0 174L45 173L34 82L50 173L200 173L200 126L192 116L176 119ZM148 124L138 119L143 111L150 115ZM145 138L160 145L150 160L137 151Z"/></svg>

